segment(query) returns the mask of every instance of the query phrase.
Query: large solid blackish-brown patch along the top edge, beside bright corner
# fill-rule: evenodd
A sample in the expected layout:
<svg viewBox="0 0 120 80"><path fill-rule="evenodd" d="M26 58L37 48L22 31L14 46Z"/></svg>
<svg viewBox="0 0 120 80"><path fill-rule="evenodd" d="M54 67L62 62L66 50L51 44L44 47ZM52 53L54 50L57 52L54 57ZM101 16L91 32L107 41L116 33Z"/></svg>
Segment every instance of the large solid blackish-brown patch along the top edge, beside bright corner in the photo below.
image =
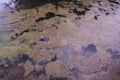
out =
<svg viewBox="0 0 120 80"><path fill-rule="evenodd" d="M57 10L61 1L62 0L16 0L13 1L13 3L15 4L16 9L31 9L51 3L55 5Z"/></svg>

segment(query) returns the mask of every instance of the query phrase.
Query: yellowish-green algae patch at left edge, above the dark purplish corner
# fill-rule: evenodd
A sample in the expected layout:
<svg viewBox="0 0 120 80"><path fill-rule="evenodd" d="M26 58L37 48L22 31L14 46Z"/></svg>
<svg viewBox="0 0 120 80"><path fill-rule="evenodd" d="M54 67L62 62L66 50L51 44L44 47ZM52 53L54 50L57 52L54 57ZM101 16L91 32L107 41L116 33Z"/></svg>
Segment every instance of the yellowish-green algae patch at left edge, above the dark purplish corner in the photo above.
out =
<svg viewBox="0 0 120 80"><path fill-rule="evenodd" d="M17 57L19 54L29 54L30 47L26 44L21 44L19 46L4 46L0 48L0 59L4 59L6 57Z"/></svg>

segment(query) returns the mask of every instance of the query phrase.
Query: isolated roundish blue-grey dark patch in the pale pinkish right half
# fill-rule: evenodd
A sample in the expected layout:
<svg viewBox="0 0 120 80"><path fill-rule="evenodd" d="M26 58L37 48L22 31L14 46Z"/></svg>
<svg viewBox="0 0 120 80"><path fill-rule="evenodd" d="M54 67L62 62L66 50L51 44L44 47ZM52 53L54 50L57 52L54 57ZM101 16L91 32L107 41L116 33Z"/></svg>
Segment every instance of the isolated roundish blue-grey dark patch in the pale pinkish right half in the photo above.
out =
<svg viewBox="0 0 120 80"><path fill-rule="evenodd" d="M94 53L97 52L96 45L89 44L87 47L82 48L82 55L85 57L92 56Z"/></svg>

